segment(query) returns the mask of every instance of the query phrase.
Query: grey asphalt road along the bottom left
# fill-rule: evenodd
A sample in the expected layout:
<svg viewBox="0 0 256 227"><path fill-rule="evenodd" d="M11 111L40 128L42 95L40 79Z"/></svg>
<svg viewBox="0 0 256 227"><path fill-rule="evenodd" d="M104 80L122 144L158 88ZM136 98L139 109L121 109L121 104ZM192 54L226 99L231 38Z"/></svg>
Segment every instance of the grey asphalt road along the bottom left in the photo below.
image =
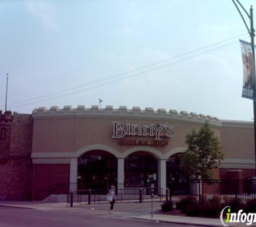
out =
<svg viewBox="0 0 256 227"><path fill-rule="evenodd" d="M184 225L139 221L105 215L97 216L81 212L54 210L34 210L24 208L0 207L0 227L181 227ZM194 226L194 225L186 225ZM196 226L195 226L196 227ZM198 226L197 226L198 227Z"/></svg>

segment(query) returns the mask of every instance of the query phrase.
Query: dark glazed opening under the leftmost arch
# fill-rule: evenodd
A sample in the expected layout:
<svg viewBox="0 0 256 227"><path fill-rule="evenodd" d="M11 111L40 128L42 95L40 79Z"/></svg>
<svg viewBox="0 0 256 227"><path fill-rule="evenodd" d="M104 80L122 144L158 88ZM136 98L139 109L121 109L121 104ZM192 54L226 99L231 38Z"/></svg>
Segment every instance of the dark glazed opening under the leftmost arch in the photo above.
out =
<svg viewBox="0 0 256 227"><path fill-rule="evenodd" d="M78 190L108 189L117 185L117 158L107 151L93 150L78 158Z"/></svg>

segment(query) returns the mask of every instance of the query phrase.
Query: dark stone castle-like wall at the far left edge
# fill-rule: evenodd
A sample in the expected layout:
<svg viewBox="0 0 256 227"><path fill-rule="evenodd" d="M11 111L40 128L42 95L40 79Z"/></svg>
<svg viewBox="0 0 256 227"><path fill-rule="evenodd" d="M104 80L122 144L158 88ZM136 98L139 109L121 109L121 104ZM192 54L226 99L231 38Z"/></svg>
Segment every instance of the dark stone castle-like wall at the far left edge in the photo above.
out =
<svg viewBox="0 0 256 227"><path fill-rule="evenodd" d="M31 200L32 127L31 115L0 112L0 200Z"/></svg>

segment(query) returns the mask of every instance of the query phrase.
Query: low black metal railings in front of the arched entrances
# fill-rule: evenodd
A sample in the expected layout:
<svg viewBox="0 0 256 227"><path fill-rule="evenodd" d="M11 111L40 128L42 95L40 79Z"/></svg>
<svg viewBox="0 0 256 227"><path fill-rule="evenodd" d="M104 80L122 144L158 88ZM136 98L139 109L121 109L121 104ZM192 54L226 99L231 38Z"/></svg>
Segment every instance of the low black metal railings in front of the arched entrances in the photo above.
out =
<svg viewBox="0 0 256 227"><path fill-rule="evenodd" d="M143 202L151 200L151 190L154 190L154 200L162 200L163 189L162 188L139 188L139 187L127 187L123 189L116 189L116 201L135 201ZM88 189L88 190L77 190L69 191L67 193L67 203L71 202L88 202L91 203L102 203L107 202L108 190L105 189Z"/></svg>

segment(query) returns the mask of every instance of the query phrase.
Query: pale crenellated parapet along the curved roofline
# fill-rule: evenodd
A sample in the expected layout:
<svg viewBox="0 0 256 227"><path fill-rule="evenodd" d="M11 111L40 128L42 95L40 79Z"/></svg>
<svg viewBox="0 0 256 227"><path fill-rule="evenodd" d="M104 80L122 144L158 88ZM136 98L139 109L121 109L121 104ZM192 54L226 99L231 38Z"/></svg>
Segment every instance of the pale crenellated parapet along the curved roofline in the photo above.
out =
<svg viewBox="0 0 256 227"><path fill-rule="evenodd" d="M46 109L39 107L32 112L33 118L116 118L116 117L129 117L137 119L151 118L154 120L172 120L174 122L185 121L204 123L208 121L211 125L221 126L222 122L217 117L209 115L197 114L195 112L188 113L187 111L165 110L147 107L141 109L140 107L133 107L128 109L126 106L120 106L119 109L114 109L112 105L106 105L105 108L99 108L98 105L92 105L91 108L86 108L84 105L79 105L77 108L72 108L66 105L63 109L56 106Z"/></svg>

